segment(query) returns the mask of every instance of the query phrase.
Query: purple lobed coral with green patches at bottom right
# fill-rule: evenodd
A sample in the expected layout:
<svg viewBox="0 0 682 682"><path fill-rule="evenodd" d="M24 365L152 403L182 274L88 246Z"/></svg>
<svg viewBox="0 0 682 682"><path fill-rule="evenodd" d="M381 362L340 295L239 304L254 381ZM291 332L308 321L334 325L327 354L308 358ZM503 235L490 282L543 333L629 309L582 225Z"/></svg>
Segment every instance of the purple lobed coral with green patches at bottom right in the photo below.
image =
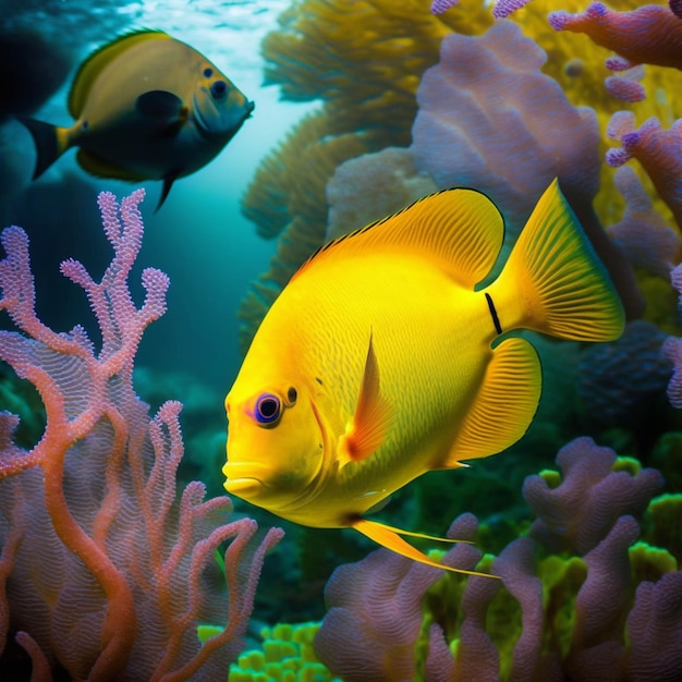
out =
<svg viewBox="0 0 682 682"><path fill-rule="evenodd" d="M538 517L492 560L501 581L442 576L383 549L339 568L314 642L320 659L348 682L679 679L682 572L665 550L632 547L661 475L588 438L557 462L561 475L526 479ZM472 539L476 526L464 514L451 533ZM479 558L459 545L442 561ZM339 646L350 637L356 646Z"/></svg>

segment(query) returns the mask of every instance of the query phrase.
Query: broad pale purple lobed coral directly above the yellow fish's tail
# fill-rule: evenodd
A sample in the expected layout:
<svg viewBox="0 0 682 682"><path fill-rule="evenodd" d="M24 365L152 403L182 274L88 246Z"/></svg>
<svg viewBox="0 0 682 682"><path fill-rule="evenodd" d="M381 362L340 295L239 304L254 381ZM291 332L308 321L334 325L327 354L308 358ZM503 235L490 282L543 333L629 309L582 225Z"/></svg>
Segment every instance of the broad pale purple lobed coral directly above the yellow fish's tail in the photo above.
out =
<svg viewBox="0 0 682 682"><path fill-rule="evenodd" d="M546 59L519 26L497 22L482 36L446 36L439 64L417 90L411 147L417 170L439 187L485 192L512 230L553 178L579 216L592 210L599 187L596 114L571 105L541 73Z"/></svg>

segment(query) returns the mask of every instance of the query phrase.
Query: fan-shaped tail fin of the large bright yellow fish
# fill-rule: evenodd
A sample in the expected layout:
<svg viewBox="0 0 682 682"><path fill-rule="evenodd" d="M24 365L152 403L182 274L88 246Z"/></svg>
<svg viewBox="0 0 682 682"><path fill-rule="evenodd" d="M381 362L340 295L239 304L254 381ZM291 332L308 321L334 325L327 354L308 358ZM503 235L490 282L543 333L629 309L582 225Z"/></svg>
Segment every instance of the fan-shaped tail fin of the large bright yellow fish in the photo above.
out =
<svg viewBox="0 0 682 682"><path fill-rule="evenodd" d="M620 297L556 179L488 291L508 307L498 308L502 330L506 314L512 326L576 341L611 341L623 330Z"/></svg>

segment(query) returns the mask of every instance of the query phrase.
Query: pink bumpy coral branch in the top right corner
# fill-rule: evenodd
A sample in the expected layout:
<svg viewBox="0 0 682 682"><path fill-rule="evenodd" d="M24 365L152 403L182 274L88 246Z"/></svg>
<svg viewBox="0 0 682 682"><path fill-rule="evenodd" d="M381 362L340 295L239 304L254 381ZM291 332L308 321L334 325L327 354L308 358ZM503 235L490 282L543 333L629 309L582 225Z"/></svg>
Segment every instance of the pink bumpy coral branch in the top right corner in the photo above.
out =
<svg viewBox="0 0 682 682"><path fill-rule="evenodd" d="M614 12L602 2L593 2L580 14L551 12L548 19L556 31L585 33L617 52L621 59L611 60L610 69L622 71L634 64L682 69L682 22L668 8L646 4Z"/></svg>

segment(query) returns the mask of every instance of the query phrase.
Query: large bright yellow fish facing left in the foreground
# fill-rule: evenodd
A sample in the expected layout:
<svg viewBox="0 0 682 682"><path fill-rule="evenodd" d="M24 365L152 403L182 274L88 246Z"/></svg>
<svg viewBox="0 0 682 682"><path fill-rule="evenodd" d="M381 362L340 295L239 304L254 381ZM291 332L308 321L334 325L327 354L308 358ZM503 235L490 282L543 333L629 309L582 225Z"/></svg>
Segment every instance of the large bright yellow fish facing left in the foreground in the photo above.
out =
<svg viewBox="0 0 682 682"><path fill-rule="evenodd" d="M263 320L226 399L227 490L447 568L400 537L426 536L365 513L425 472L523 436L541 376L519 330L609 341L624 324L557 181L491 280L503 230L485 195L448 190L312 256Z"/></svg>

